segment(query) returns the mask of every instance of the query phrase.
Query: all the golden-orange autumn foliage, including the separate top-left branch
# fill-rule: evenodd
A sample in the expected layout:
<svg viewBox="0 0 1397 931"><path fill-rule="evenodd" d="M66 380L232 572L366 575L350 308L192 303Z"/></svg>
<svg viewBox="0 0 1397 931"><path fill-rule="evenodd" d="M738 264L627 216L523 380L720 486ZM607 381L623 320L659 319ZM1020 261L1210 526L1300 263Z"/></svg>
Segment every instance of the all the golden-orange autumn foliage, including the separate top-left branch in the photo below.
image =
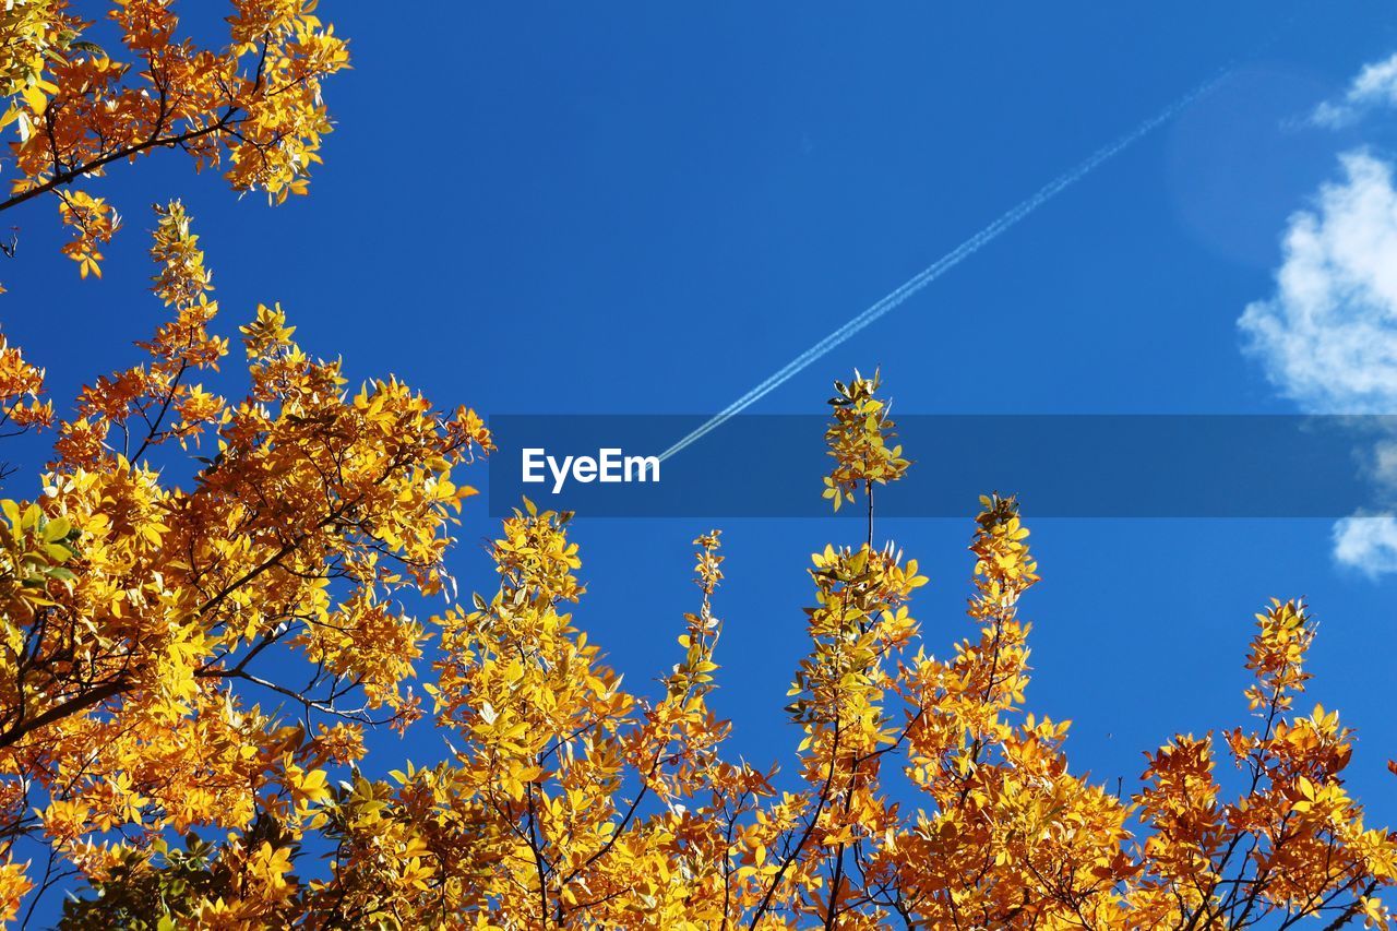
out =
<svg viewBox="0 0 1397 931"><path fill-rule="evenodd" d="M105 165L182 148L237 190L303 189L319 81L345 66L310 4L235 0L222 52L176 41L169 3L112 17L126 64L63 0L0 11L20 131L0 210L54 193L88 271L116 217L71 185ZM493 449L474 411L346 384L279 306L224 326L183 205L151 226L168 319L137 363L60 417L0 340L0 432L53 440L8 482L29 499L0 502L7 923L67 890L70 928L1389 927L1397 836L1344 788L1352 732L1303 700L1302 602L1256 615L1246 726L1172 738L1133 793L1074 774L1067 723L1027 705L1018 502L981 499L964 636L923 637L928 577L873 523L915 464L855 373L824 496L866 524L813 556L793 755L743 760L710 703L717 530L673 667L623 686L574 616L571 514L522 503L495 590L457 593L462 472ZM419 621L416 596L448 607ZM370 779L370 728L448 751Z"/></svg>

